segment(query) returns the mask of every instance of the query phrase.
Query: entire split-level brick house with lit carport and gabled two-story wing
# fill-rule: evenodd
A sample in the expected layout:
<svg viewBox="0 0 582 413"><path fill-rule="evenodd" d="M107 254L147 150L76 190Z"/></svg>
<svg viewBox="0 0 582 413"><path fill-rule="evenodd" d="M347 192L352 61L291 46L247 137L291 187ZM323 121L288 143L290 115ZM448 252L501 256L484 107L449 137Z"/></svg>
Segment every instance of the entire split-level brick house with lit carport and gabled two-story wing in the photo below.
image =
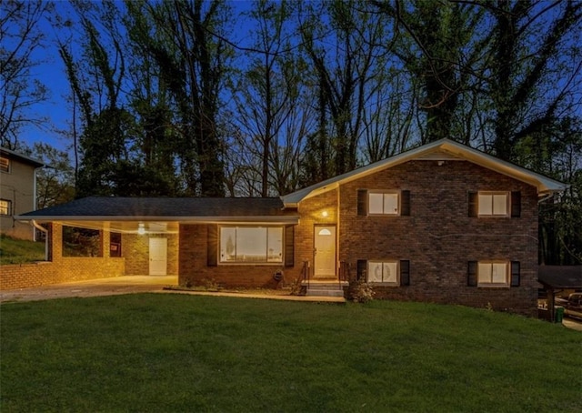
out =
<svg viewBox="0 0 582 413"><path fill-rule="evenodd" d="M281 198L95 197L20 218L51 225L54 260L66 260L63 226L99 229L95 259L122 259L125 275L230 287L359 278L376 297L534 316L537 204L564 187L444 139Z"/></svg>

